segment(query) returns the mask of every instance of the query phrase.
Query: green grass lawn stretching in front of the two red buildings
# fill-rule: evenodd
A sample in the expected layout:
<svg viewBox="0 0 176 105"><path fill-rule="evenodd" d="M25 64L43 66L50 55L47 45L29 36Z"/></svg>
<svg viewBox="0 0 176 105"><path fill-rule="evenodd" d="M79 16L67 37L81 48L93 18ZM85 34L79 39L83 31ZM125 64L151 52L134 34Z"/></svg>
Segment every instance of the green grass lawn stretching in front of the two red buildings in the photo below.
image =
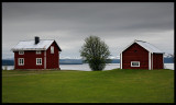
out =
<svg viewBox="0 0 176 105"><path fill-rule="evenodd" d="M2 103L174 103L174 70L3 70Z"/></svg>

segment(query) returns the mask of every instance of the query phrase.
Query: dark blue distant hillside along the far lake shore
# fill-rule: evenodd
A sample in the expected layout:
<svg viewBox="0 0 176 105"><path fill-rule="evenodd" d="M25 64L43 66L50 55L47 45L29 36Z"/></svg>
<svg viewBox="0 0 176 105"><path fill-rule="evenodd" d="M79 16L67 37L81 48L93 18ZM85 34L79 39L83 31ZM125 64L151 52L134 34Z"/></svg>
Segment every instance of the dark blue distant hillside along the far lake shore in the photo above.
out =
<svg viewBox="0 0 176 105"><path fill-rule="evenodd" d="M59 59L61 65L82 65L81 59ZM120 63L120 59L112 59L111 63ZM164 58L164 63L174 63L174 58ZM2 66L13 66L14 61L2 59Z"/></svg>

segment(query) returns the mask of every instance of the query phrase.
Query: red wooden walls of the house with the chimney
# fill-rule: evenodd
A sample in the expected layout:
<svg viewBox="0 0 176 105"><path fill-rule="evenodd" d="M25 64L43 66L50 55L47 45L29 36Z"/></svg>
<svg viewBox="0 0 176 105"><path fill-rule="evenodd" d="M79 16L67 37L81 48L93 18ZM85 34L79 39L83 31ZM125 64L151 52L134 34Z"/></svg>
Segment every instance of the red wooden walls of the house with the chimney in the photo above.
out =
<svg viewBox="0 0 176 105"><path fill-rule="evenodd" d="M54 54L51 54L51 46L54 46ZM59 68L59 51L56 43L54 42L46 50L46 69ZM18 58L24 58L24 66L19 66ZM36 66L36 58L42 58L42 66ZM14 69L44 69L44 50L37 55L35 50L25 50L24 55L19 55L14 51Z"/></svg>

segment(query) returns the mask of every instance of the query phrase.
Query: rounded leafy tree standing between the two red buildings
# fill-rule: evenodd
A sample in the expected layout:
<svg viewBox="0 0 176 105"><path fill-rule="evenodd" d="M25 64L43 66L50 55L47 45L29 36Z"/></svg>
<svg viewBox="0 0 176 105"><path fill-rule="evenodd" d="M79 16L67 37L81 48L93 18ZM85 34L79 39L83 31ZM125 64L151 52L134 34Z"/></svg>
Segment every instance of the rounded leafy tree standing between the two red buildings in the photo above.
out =
<svg viewBox="0 0 176 105"><path fill-rule="evenodd" d="M80 49L80 56L89 63L92 71L101 71L106 67L110 51L109 47L100 37L89 36L85 38L85 44Z"/></svg>

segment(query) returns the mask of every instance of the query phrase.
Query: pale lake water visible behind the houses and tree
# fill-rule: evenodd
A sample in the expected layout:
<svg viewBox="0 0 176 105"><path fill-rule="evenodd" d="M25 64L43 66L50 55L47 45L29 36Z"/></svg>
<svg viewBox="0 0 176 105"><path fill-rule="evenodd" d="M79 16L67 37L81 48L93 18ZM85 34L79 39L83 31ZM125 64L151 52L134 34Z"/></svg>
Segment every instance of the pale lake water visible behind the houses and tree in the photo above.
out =
<svg viewBox="0 0 176 105"><path fill-rule="evenodd" d="M2 69L13 70L14 66L2 66ZM120 63L107 63L105 70L111 70L120 68ZM164 63L165 69L174 70L174 63ZM81 71L91 71L88 63L84 65L61 65L62 70L81 70Z"/></svg>

